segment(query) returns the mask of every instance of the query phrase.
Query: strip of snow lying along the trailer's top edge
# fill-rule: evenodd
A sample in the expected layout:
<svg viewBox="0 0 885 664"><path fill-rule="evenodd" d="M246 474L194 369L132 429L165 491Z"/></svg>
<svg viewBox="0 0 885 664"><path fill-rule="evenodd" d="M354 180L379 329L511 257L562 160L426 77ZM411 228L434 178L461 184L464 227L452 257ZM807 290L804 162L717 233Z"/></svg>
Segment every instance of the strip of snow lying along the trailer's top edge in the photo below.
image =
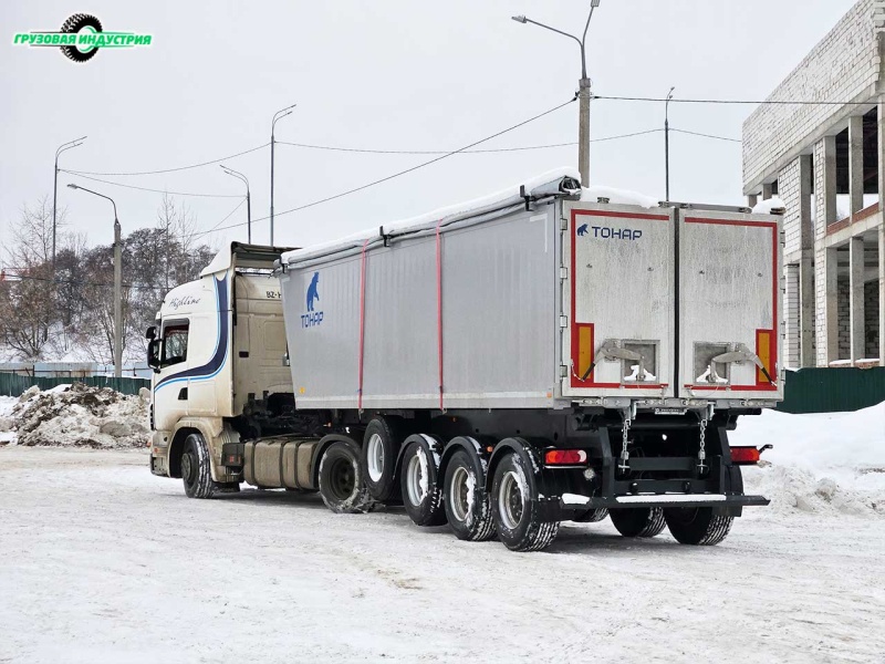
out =
<svg viewBox="0 0 885 664"><path fill-rule="evenodd" d="M522 205L524 196L533 198L546 197L552 195L569 196L576 195L581 181L581 175L575 168L562 167L548 170L537 177L482 196L472 200L459 203L448 207L439 208L410 219L403 219L384 225L385 235L402 235L419 230L433 230L437 225L448 225L461 219L478 217L486 212L507 207L509 205ZM656 207L658 200L650 196L644 196L626 189L614 189L612 187L589 187L582 188L581 200L595 203L598 198L608 198L610 203L621 205L637 205L644 208ZM322 256L362 248L367 240L381 241L382 237L378 228L371 228L339 238L320 245L314 245L305 249L296 249L282 255L282 262L292 264L295 262L308 261Z"/></svg>

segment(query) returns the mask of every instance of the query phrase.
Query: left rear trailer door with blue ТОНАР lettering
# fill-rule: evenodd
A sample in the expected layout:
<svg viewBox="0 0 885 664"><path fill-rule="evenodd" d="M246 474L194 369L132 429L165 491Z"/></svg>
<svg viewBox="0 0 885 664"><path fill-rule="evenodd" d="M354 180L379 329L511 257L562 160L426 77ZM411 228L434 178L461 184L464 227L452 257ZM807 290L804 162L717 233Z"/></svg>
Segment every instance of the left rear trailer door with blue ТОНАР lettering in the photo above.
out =
<svg viewBox="0 0 885 664"><path fill-rule="evenodd" d="M675 212L563 209L563 395L671 396Z"/></svg>

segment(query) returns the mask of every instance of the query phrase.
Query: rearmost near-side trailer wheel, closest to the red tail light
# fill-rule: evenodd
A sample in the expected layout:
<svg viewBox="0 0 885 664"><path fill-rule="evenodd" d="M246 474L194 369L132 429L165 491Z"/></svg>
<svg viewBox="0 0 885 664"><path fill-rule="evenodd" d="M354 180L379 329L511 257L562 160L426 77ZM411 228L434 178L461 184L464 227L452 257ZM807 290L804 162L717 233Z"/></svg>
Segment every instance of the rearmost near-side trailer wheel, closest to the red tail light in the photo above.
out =
<svg viewBox="0 0 885 664"><path fill-rule="evenodd" d="M540 551L555 539L560 522L541 520L534 477L516 454L507 455L494 469L491 496L498 538L508 549Z"/></svg>

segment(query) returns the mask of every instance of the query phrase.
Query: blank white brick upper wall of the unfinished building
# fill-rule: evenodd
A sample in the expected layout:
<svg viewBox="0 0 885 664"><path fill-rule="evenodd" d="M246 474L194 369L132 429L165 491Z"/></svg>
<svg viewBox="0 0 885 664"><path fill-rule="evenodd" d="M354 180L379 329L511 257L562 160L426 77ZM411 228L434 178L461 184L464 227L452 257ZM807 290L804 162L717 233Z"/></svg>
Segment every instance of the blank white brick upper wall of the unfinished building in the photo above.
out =
<svg viewBox="0 0 885 664"><path fill-rule="evenodd" d="M768 100L854 100L878 81L877 33L883 29L885 0L860 0ZM743 123L743 193L750 194L790 151L806 145L846 111L841 105L759 106Z"/></svg>

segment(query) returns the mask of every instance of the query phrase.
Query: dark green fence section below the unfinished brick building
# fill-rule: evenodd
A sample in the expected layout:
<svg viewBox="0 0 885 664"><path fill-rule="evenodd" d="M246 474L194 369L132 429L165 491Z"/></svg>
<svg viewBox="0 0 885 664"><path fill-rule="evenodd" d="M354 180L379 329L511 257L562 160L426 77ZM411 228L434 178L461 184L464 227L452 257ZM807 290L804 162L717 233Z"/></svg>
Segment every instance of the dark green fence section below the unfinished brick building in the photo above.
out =
<svg viewBox="0 0 885 664"><path fill-rule="evenodd" d="M860 411L885 401L885 367L788 371L783 391L784 413Z"/></svg>

